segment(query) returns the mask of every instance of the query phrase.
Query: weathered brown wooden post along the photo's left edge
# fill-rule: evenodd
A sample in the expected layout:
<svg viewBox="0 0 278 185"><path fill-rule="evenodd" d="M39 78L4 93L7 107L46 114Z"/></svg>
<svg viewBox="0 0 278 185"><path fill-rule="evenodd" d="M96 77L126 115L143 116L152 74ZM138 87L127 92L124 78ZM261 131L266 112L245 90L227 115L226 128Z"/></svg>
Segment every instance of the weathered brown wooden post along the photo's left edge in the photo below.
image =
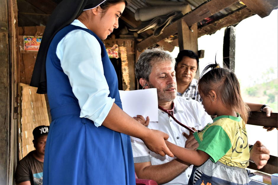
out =
<svg viewBox="0 0 278 185"><path fill-rule="evenodd" d="M14 184L17 163L17 1L0 6L0 184Z"/></svg>

